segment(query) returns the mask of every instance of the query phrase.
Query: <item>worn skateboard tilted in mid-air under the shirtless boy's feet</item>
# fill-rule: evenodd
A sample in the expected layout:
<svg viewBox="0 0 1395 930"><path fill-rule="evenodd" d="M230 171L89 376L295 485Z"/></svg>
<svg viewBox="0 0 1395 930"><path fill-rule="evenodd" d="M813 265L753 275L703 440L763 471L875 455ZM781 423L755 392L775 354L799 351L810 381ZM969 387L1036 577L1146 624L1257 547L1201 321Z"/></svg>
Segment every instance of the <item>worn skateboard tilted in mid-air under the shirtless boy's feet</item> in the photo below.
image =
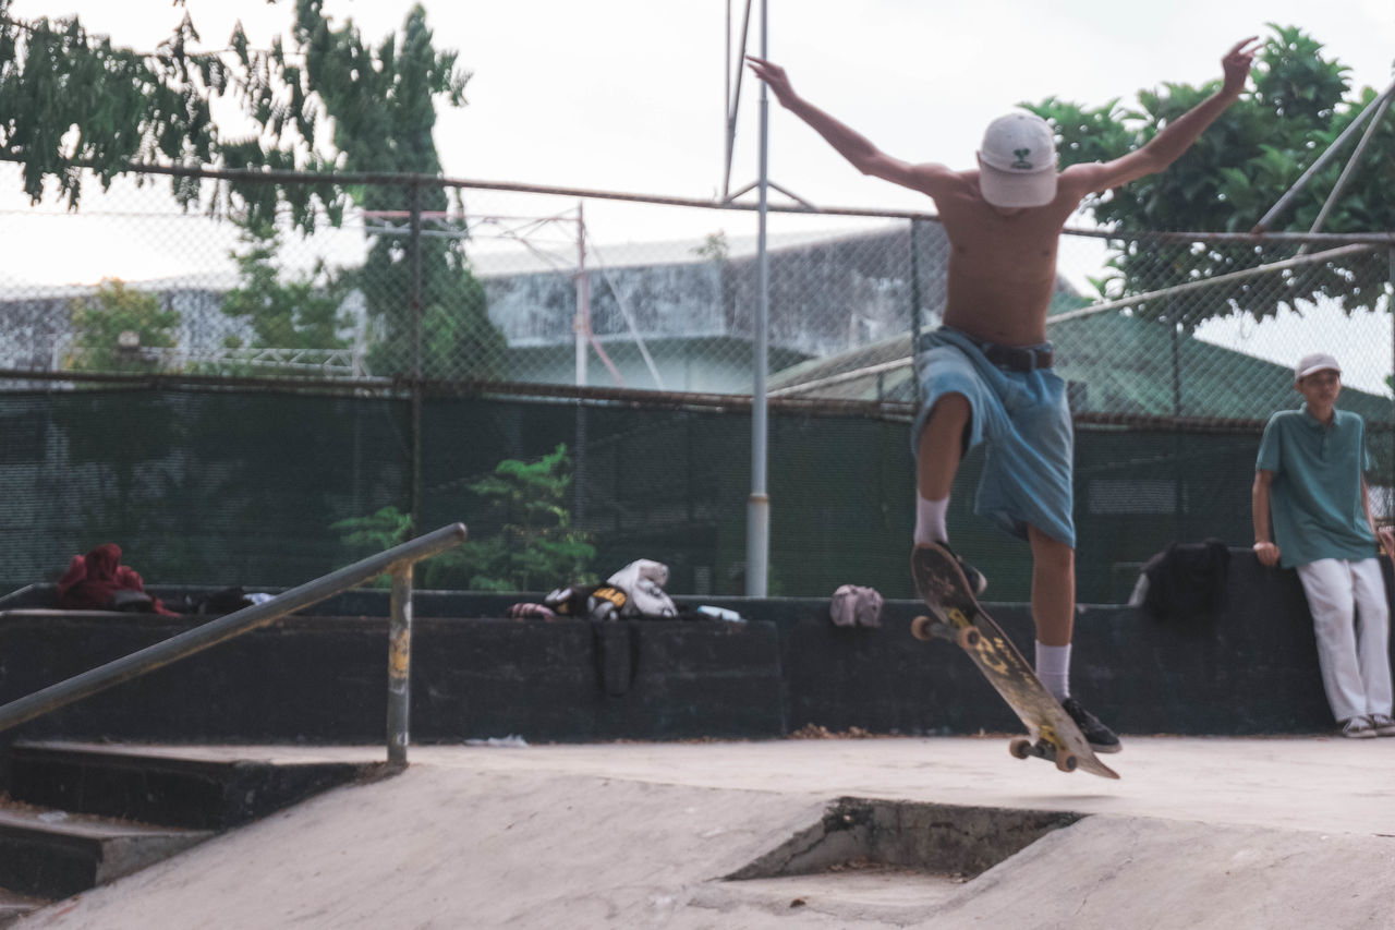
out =
<svg viewBox="0 0 1395 930"><path fill-rule="evenodd" d="M1119 778L1099 761L1076 721L1036 679L1032 666L1002 627L979 606L954 556L942 546L917 546L911 554L911 577L915 591L933 614L912 620L911 635L917 640L949 640L968 654L1027 728L1027 737L1009 743L1014 757L1035 755L1055 762L1063 772L1080 768L1102 778Z"/></svg>

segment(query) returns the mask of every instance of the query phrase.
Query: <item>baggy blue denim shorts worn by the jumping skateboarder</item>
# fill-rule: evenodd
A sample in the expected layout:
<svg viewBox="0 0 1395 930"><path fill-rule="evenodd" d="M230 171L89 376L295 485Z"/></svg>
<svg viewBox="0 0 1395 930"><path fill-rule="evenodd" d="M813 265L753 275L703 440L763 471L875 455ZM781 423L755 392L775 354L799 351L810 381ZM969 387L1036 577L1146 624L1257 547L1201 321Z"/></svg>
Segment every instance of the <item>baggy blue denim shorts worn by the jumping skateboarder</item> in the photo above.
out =
<svg viewBox="0 0 1395 930"><path fill-rule="evenodd" d="M921 409L911 427L911 454L935 402L963 394L972 411L964 451L983 443L986 452L974 511L1021 539L1027 526L1036 526L1074 549L1074 431L1066 383L1050 369L995 366L957 330L928 332L921 345Z"/></svg>

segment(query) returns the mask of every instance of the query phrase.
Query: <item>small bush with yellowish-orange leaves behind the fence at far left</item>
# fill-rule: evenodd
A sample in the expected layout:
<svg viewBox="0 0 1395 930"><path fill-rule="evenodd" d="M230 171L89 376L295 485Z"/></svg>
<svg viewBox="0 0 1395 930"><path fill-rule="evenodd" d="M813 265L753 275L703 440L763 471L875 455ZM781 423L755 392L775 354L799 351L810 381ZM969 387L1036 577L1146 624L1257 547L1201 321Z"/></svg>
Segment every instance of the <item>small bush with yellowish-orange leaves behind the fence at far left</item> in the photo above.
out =
<svg viewBox="0 0 1395 930"><path fill-rule="evenodd" d="M91 297L68 304L77 332L64 362L70 371L148 371L160 367L145 349L170 348L179 338L179 311L158 296L106 279Z"/></svg>

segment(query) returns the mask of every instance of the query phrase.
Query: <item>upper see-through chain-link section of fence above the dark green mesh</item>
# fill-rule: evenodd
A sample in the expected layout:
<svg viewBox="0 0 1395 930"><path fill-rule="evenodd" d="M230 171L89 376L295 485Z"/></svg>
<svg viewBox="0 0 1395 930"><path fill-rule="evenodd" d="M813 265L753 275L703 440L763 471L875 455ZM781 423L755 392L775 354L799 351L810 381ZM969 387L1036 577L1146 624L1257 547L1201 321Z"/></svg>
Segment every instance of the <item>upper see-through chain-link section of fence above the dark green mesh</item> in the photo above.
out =
<svg viewBox="0 0 1395 930"><path fill-rule="evenodd" d="M17 170L0 166L0 190ZM4 211L0 367L751 391L749 208L379 183L354 202L400 208L306 233L180 214L166 182L119 182L75 214ZM914 401L942 228L774 212L769 229L771 395ZM1067 233L1049 331L1077 412L1262 419L1315 345L1348 387L1389 397L1392 247Z"/></svg>

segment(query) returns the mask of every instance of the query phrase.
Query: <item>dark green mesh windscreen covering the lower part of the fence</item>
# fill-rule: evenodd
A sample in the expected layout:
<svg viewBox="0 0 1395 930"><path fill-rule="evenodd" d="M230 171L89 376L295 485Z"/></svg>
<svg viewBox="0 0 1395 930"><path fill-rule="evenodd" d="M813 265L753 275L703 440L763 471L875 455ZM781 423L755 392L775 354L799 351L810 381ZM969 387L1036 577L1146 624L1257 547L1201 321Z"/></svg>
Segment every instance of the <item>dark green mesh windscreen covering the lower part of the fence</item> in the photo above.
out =
<svg viewBox="0 0 1395 930"><path fill-rule="evenodd" d="M1389 431L1371 423L1377 497L1392 480ZM71 556L119 543L146 582L297 585L363 553L332 525L412 503L410 405L400 399L230 390L0 394L0 582L53 581ZM1258 430L1077 427L1081 602L1126 599L1138 566L1173 540L1247 546ZM470 489L504 459L565 444L573 522L604 578L667 563L682 598L745 592L751 420L744 412L428 398L421 413L423 531L502 517ZM900 422L770 416L773 596L841 584L911 598L914 462ZM956 547L995 600L1027 600L1025 543L972 515L970 454L950 511ZM1380 503L1378 501L1378 503ZM1384 507L1385 504L1381 504ZM545 589L569 578L548 580Z"/></svg>

